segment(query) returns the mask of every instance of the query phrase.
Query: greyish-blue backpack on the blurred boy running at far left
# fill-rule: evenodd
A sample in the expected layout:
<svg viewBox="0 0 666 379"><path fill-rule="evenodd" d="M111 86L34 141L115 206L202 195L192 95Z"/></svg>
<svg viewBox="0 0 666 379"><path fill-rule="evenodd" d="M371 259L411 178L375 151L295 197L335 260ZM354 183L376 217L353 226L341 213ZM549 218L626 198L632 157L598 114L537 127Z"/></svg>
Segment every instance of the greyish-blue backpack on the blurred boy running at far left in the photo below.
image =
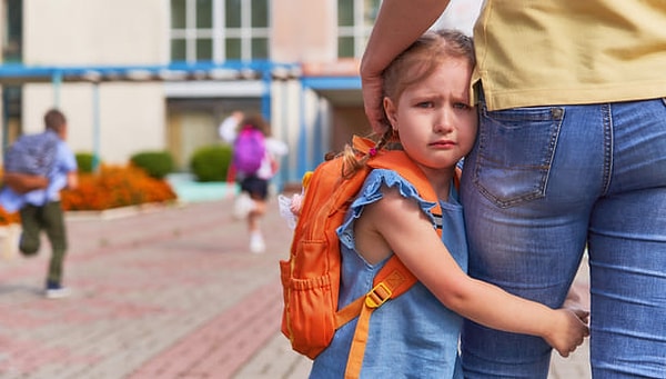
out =
<svg viewBox="0 0 666 379"><path fill-rule="evenodd" d="M59 141L60 137L52 131L19 137L6 153L4 172L21 174L6 176L4 183L24 193L32 187L31 177L48 177L56 163Z"/></svg>

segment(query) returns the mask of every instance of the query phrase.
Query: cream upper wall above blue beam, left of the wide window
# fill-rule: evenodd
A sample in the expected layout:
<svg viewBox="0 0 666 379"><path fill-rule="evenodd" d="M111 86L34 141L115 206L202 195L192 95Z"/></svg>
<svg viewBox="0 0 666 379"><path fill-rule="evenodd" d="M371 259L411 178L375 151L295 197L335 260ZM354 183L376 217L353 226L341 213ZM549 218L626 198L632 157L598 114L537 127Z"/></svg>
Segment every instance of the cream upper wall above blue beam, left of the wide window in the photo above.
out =
<svg viewBox="0 0 666 379"><path fill-rule="evenodd" d="M23 1L26 64L168 62L167 0Z"/></svg>

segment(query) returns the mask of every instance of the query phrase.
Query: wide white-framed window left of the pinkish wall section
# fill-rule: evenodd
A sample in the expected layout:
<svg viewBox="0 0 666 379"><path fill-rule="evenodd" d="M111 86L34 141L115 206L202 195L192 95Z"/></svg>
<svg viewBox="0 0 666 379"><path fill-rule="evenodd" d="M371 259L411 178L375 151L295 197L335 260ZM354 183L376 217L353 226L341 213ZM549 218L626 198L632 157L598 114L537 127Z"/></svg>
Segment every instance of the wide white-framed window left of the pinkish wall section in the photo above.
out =
<svg viewBox="0 0 666 379"><path fill-rule="evenodd" d="M270 58L270 0L171 0L171 60Z"/></svg>

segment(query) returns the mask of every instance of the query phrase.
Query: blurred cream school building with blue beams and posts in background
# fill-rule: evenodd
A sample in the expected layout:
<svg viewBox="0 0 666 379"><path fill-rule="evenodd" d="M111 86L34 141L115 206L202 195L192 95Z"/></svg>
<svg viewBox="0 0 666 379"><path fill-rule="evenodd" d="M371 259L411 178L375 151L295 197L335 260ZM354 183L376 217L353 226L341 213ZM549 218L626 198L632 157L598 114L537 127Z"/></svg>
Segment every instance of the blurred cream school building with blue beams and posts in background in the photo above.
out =
<svg viewBox="0 0 666 379"><path fill-rule="evenodd" d="M68 142L103 162L221 143L234 110L261 112L290 153L278 180L369 133L359 62L381 0L0 0L0 136L41 131L57 107ZM471 33L481 0L437 26Z"/></svg>

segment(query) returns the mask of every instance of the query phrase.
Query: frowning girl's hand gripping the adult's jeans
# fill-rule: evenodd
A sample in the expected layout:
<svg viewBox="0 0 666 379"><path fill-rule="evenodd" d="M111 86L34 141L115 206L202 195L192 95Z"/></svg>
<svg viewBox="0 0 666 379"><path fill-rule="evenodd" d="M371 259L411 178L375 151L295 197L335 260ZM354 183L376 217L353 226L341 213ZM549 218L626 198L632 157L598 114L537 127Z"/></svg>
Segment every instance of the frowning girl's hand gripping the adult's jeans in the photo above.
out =
<svg viewBox="0 0 666 379"><path fill-rule="evenodd" d="M562 357L568 357L589 336L589 328L584 322L589 312L581 309L557 309L555 312L555 322L544 339Z"/></svg>

